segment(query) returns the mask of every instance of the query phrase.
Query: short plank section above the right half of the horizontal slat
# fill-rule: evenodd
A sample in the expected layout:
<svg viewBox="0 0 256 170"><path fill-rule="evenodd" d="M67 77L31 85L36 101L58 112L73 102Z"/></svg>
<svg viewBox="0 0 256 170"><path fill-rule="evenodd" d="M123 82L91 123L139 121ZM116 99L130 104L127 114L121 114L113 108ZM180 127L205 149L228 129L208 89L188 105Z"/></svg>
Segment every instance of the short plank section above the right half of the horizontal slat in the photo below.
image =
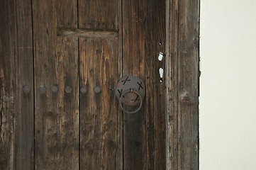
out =
<svg viewBox="0 0 256 170"><path fill-rule="evenodd" d="M118 30L118 0L78 0L79 28Z"/></svg>

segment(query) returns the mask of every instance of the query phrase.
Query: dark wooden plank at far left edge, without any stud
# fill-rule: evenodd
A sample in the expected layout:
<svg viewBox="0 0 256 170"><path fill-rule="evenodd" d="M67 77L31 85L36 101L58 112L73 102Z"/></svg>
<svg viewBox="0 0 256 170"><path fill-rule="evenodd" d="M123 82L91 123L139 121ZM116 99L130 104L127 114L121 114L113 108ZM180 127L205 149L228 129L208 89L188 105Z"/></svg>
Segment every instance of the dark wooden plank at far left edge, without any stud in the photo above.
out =
<svg viewBox="0 0 256 170"><path fill-rule="evenodd" d="M0 6L0 169L14 169L16 141L16 3Z"/></svg>

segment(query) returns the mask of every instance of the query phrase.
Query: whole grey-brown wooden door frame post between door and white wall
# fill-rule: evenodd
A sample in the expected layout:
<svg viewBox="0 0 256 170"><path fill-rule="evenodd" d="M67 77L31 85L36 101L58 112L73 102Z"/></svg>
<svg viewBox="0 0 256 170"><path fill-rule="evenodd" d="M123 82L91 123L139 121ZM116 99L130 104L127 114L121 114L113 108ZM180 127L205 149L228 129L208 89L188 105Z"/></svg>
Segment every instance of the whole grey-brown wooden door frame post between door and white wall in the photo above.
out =
<svg viewBox="0 0 256 170"><path fill-rule="evenodd" d="M167 169L199 169L199 10L166 1Z"/></svg>

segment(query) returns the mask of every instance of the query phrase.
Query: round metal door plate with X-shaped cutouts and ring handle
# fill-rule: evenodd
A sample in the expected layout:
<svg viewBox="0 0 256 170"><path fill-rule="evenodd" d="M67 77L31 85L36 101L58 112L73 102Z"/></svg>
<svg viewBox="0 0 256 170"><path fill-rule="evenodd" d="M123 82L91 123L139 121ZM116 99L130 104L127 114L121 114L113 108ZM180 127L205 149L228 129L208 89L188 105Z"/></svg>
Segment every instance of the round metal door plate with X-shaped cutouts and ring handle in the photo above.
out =
<svg viewBox="0 0 256 170"><path fill-rule="evenodd" d="M123 111L136 113L143 105L145 84L138 77L124 76L116 84L116 96ZM127 108L132 110L130 111Z"/></svg>

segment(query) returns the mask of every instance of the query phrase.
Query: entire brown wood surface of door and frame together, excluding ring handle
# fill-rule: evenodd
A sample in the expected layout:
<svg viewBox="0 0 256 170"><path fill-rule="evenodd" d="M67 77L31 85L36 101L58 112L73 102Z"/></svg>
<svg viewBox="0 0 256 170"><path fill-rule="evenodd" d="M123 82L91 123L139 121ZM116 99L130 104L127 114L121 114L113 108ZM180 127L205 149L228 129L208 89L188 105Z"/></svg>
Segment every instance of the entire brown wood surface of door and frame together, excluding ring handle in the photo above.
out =
<svg viewBox="0 0 256 170"><path fill-rule="evenodd" d="M199 1L4 0L0 14L0 169L199 169ZM145 82L138 113L118 106L124 75Z"/></svg>

